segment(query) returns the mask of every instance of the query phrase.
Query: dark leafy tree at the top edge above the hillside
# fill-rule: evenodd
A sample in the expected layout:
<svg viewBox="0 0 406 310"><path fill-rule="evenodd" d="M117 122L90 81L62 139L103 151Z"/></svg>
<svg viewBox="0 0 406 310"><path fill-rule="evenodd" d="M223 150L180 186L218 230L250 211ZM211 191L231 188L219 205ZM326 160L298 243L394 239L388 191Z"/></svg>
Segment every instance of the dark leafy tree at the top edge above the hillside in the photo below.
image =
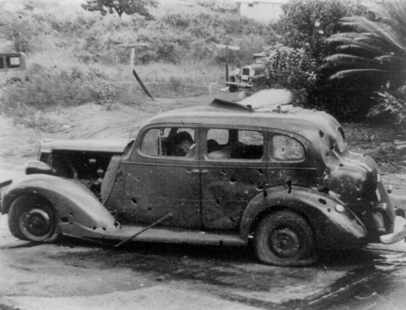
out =
<svg viewBox="0 0 406 310"><path fill-rule="evenodd" d="M151 17L146 6L158 6L157 0L87 0L86 4L82 4L82 8L86 11L100 11L102 15L107 13L117 12L119 17L123 13L127 15L133 15L135 13L148 17Z"/></svg>

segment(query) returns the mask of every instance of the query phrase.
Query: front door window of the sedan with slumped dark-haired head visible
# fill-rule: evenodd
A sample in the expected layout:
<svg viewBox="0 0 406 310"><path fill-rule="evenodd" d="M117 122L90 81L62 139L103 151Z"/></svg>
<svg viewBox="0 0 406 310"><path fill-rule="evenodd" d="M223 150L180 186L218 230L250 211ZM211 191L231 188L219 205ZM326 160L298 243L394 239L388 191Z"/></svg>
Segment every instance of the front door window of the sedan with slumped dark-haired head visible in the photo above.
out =
<svg viewBox="0 0 406 310"><path fill-rule="evenodd" d="M141 142L141 151L154 156L194 157L195 136L192 128L149 129Z"/></svg>

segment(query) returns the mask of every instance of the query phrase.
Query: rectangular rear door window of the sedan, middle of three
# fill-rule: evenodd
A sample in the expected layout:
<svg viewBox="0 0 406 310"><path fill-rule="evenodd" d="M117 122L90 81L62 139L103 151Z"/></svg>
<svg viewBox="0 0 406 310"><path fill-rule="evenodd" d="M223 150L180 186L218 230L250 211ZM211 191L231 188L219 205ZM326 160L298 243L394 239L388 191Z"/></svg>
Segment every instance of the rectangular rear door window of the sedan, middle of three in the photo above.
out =
<svg viewBox="0 0 406 310"><path fill-rule="evenodd" d="M253 130L209 129L206 155L209 159L261 159L263 134Z"/></svg>

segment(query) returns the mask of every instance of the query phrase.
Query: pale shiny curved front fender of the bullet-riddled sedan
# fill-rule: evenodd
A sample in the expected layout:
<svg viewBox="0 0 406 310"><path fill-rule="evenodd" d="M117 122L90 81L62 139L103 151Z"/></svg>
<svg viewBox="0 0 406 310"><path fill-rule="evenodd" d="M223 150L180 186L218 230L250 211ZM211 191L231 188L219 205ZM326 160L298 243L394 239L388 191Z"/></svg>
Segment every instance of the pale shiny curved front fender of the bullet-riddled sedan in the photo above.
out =
<svg viewBox="0 0 406 310"><path fill-rule="evenodd" d="M58 215L61 233L78 237L117 230L117 222L93 193L77 181L48 174L30 174L13 181L3 199L8 213L15 198L35 194L50 201Z"/></svg>

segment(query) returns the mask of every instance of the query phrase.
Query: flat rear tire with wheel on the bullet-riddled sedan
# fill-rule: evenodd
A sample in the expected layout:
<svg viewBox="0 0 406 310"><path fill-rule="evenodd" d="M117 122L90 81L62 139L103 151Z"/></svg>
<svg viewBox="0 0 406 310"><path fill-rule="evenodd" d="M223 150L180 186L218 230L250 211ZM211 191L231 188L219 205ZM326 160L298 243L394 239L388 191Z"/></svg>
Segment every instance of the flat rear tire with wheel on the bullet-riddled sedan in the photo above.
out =
<svg viewBox="0 0 406 310"><path fill-rule="evenodd" d="M317 260L311 226L292 211L276 211L263 217L257 226L254 248L257 258L269 265L310 265Z"/></svg>

